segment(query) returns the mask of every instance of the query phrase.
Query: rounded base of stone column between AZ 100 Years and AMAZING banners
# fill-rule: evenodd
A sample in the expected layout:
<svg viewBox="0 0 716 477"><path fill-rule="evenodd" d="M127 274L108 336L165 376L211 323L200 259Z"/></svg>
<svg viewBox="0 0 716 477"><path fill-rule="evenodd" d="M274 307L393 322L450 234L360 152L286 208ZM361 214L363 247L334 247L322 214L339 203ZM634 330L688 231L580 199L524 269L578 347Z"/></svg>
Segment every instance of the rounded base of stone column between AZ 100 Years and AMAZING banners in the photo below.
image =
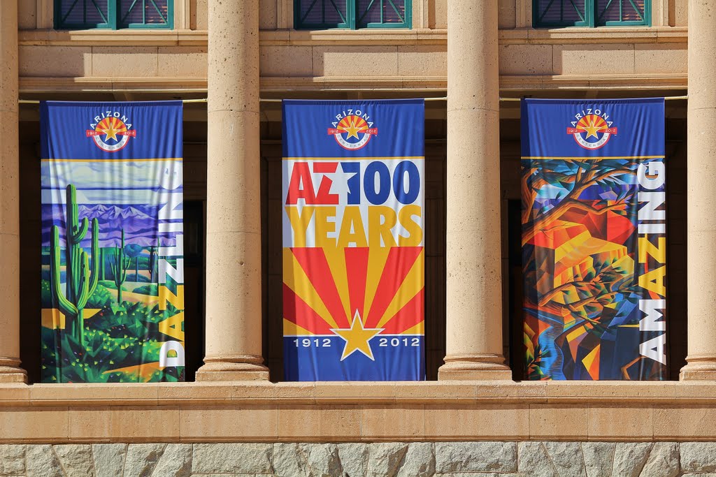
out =
<svg viewBox="0 0 716 477"><path fill-rule="evenodd" d="M439 381L512 380L512 370L502 355L449 355L437 370Z"/></svg>

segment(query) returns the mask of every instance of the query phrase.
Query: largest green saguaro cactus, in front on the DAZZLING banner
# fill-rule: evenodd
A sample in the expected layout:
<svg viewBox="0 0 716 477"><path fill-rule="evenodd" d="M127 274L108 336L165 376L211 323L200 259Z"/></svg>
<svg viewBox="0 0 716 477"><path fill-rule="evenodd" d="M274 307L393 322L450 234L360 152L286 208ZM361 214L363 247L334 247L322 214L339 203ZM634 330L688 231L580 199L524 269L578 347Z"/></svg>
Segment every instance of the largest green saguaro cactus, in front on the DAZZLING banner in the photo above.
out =
<svg viewBox="0 0 716 477"><path fill-rule="evenodd" d="M60 286L60 247L59 227L52 226L50 237L50 272L52 292L57 300L57 306L65 317L65 332L84 345L84 318L82 310L87 300L97 288L97 279L100 277L100 225L97 219L92 219L92 261L89 255L79 245L87 235L89 222L87 217L79 223L77 217L77 190L73 185L67 186L67 227L65 230L64 249L66 262L65 282L66 290L62 292Z"/></svg>

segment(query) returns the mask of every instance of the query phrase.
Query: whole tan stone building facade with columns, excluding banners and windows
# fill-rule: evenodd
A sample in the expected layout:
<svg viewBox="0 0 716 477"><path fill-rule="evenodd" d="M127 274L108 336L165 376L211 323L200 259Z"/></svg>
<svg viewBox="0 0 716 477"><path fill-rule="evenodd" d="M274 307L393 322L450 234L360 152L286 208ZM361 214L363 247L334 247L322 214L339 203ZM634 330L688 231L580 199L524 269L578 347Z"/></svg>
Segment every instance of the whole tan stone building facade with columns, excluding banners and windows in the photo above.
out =
<svg viewBox="0 0 716 477"><path fill-rule="evenodd" d="M294 0L174 0L157 30L55 29L54 5L0 0L0 476L716 473L712 0L651 0L649 26L554 29L533 26L532 0L413 0L412 28L354 31L294 29ZM521 381L509 99L652 96L681 98L672 380ZM388 97L433 99L429 380L282 382L277 100ZM208 98L184 118L191 382L39 384L33 101L177 98Z"/></svg>

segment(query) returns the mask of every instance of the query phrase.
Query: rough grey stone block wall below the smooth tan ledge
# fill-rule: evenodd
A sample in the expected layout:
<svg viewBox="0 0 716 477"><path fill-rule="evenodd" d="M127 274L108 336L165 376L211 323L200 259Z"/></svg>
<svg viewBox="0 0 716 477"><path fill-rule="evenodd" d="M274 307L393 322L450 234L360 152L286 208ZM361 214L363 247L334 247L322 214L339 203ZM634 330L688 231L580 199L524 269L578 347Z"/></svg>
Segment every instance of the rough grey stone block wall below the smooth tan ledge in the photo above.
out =
<svg viewBox="0 0 716 477"><path fill-rule="evenodd" d="M716 443L0 445L7 477L716 477Z"/></svg>

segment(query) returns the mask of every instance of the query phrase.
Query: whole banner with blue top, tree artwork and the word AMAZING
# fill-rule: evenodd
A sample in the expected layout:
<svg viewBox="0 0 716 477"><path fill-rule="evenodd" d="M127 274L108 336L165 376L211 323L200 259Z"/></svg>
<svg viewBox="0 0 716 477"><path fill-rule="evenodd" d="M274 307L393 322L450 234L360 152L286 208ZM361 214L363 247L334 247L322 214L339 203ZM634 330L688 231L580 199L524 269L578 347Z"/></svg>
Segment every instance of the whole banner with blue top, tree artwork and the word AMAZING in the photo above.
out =
<svg viewBox="0 0 716 477"><path fill-rule="evenodd" d="M664 100L522 102L525 377L666 367Z"/></svg>

